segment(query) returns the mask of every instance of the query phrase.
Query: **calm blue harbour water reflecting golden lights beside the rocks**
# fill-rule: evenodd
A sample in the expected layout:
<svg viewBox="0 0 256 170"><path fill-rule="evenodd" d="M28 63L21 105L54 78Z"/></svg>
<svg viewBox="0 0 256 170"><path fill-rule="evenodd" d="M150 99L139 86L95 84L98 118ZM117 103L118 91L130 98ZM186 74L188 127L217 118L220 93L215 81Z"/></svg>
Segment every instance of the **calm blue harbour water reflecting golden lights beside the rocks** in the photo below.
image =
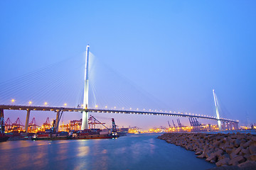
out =
<svg viewBox="0 0 256 170"><path fill-rule="evenodd" d="M156 139L127 135L107 140L0 143L0 169L210 169L194 152Z"/></svg>

